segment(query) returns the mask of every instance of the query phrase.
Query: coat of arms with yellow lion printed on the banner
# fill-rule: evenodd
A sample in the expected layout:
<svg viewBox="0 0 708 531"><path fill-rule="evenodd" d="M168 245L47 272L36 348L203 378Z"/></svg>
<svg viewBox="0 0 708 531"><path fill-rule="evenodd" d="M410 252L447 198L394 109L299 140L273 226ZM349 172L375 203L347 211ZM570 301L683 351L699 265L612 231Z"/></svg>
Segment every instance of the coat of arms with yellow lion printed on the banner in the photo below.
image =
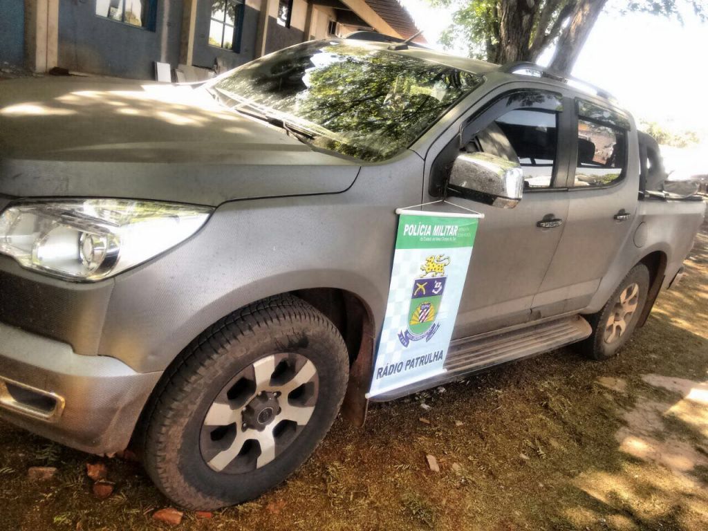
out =
<svg viewBox="0 0 708 531"><path fill-rule="evenodd" d="M450 265L449 256L428 256L421 265L423 275L413 280L408 326L399 332L399 340L404 347L411 341L430 341L440 324L435 319L440 312L442 292L445 291L445 266Z"/></svg>

